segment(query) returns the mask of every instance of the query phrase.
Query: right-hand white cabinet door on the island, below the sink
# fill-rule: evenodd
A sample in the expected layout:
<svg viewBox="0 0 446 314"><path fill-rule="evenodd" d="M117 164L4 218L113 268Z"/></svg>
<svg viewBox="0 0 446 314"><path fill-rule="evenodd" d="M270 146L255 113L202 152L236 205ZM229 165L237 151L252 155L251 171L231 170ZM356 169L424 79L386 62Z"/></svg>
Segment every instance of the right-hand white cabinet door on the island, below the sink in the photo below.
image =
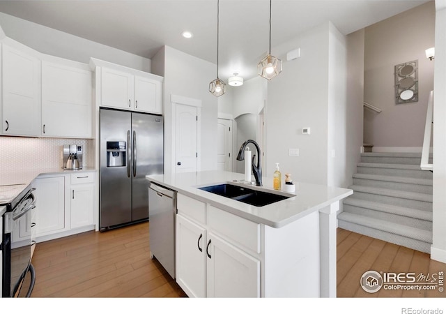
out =
<svg viewBox="0 0 446 314"><path fill-rule="evenodd" d="M208 234L207 297L260 297L260 261Z"/></svg>

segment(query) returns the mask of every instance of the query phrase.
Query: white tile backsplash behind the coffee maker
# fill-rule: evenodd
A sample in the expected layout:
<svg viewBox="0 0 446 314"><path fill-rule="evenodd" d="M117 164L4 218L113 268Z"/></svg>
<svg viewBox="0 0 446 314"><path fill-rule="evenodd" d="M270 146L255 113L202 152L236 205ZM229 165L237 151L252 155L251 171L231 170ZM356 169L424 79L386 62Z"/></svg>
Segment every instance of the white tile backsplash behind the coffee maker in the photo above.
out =
<svg viewBox="0 0 446 314"><path fill-rule="evenodd" d="M94 166L93 140L0 136L0 176L2 173L62 167L64 144L83 146L83 167Z"/></svg>

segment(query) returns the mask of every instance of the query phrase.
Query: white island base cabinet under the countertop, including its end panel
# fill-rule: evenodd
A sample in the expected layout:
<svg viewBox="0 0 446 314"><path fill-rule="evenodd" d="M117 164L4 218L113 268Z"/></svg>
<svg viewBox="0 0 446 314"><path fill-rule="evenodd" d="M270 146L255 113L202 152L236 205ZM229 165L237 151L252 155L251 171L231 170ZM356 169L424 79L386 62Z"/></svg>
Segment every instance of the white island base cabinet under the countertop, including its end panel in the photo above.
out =
<svg viewBox="0 0 446 314"><path fill-rule="evenodd" d="M275 228L217 206L178 193L176 281L189 297L335 297L321 292L318 211Z"/></svg>

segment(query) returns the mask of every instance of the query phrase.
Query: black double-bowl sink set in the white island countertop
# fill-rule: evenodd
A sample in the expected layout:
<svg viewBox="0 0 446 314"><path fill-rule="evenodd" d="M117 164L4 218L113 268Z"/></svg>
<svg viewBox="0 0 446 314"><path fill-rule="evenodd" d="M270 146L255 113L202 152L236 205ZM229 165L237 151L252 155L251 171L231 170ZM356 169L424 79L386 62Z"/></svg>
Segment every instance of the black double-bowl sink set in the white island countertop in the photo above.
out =
<svg viewBox="0 0 446 314"><path fill-rule="evenodd" d="M256 207L262 207L268 204L286 200L289 196L268 193L261 190L253 190L252 188L245 188L243 186L235 186L233 184L218 184L215 186L204 186L199 188L207 192L221 195L224 197L244 202Z"/></svg>

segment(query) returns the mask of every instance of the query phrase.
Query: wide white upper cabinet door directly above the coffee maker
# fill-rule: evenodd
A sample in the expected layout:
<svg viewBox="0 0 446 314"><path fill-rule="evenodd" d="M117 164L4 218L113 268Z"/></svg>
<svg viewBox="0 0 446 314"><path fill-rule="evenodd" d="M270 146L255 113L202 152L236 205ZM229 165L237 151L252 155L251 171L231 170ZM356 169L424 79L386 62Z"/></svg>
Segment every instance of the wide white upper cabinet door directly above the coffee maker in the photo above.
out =
<svg viewBox="0 0 446 314"><path fill-rule="evenodd" d="M42 135L91 137L91 71L42 61Z"/></svg>

